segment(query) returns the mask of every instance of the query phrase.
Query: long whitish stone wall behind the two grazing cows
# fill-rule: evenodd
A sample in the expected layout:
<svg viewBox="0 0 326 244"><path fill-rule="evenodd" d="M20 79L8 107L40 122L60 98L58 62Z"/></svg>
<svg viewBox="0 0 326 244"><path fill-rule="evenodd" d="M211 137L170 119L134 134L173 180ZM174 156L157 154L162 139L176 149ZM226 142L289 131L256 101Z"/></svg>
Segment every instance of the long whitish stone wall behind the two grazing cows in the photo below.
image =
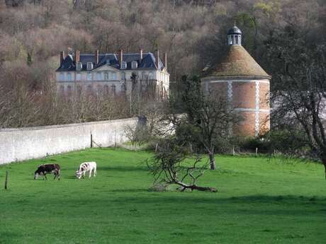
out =
<svg viewBox="0 0 326 244"><path fill-rule="evenodd" d="M63 124L21 129L0 129L0 164L41 158L47 155L86 149L91 134L96 144L114 146L127 141L126 125L135 127L137 118L81 124ZM96 144L93 144L95 147Z"/></svg>

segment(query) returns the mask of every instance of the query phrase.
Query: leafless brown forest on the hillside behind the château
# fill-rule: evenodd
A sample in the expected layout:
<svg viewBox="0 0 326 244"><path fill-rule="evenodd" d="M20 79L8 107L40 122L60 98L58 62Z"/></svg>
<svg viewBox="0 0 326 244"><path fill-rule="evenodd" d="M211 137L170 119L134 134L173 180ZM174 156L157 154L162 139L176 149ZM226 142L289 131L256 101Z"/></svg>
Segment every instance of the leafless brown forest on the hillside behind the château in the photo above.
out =
<svg viewBox="0 0 326 244"><path fill-rule="evenodd" d="M200 74L225 45L236 21L245 48L273 75L270 37L285 26L326 35L323 0L2 0L0 4L0 127L85 122L146 114L128 99L57 95L59 53L168 53L171 81ZM310 35L310 36L314 36ZM321 39L320 39L321 40Z"/></svg>

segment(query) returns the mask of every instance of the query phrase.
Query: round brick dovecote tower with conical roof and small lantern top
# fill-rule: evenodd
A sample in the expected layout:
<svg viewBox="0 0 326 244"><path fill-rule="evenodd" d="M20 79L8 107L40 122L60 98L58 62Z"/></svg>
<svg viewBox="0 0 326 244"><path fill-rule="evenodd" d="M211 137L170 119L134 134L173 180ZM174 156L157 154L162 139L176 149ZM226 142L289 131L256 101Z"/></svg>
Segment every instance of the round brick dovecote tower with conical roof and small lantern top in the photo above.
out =
<svg viewBox="0 0 326 244"><path fill-rule="evenodd" d="M227 31L227 50L202 79L203 90L219 93L238 112L242 120L233 134L258 136L269 130L269 81L271 76L241 45L237 26Z"/></svg>

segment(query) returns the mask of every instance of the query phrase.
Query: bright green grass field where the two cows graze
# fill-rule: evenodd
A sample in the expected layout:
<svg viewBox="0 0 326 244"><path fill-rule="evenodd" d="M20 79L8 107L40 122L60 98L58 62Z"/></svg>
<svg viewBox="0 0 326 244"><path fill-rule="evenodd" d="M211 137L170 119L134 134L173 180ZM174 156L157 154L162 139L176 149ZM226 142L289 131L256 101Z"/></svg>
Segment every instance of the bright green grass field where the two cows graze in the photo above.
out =
<svg viewBox="0 0 326 244"><path fill-rule="evenodd" d="M218 192L150 192L147 152L90 149L0 167L0 243L326 243L322 165L217 156ZM82 161L96 178L77 180ZM62 179L33 180L40 163ZM9 190L4 190L9 170Z"/></svg>

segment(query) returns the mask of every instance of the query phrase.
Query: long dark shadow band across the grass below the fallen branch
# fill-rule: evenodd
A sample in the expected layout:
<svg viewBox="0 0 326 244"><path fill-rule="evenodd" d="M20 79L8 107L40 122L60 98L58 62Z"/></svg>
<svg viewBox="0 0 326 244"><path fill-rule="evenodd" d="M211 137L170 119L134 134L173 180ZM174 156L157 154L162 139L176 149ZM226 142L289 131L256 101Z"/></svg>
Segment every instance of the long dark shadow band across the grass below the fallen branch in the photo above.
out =
<svg viewBox="0 0 326 244"><path fill-rule="evenodd" d="M171 195L164 193L149 193L145 189L120 189L111 190L112 194L107 197L87 197L78 199L78 204L89 205L92 207L111 208L126 207L133 208L159 207L169 209L169 213L198 211L203 215L237 214L240 216L262 215L269 216L318 216L326 217L326 198L325 197L303 197L296 195L267 196L249 195L240 197L218 198L212 197L211 193L196 194L186 192L176 192ZM139 194L147 192L147 194ZM114 194L113 194L114 193ZM122 193L119 195L119 193ZM126 193L126 194L123 194ZM96 194L95 194L96 195ZM117 196L117 197L113 197ZM48 201L48 199L46 200ZM51 199L52 204L60 201L60 204L72 206L76 204L74 197L63 199ZM40 202L42 204L42 202ZM186 207L186 208L185 208ZM105 209L103 211L106 211Z"/></svg>

